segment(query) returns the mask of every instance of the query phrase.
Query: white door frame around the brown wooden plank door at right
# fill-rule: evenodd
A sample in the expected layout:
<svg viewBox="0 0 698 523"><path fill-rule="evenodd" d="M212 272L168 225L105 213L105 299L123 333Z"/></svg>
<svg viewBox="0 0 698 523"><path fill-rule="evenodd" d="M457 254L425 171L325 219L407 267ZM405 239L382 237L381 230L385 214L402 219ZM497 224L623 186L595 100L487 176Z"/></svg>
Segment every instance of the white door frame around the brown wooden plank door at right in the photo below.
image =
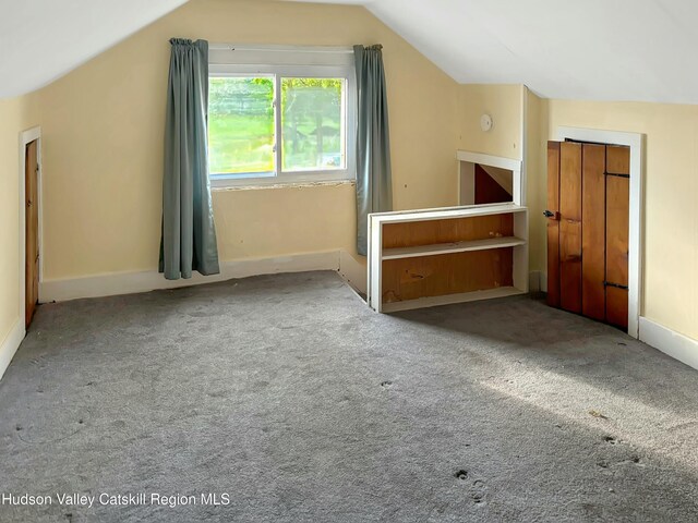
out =
<svg viewBox="0 0 698 523"><path fill-rule="evenodd" d="M645 223L643 178L645 135L583 127L557 127L557 139L595 142L630 147L630 219L628 238L628 335L639 338L642 314L642 231Z"/></svg>

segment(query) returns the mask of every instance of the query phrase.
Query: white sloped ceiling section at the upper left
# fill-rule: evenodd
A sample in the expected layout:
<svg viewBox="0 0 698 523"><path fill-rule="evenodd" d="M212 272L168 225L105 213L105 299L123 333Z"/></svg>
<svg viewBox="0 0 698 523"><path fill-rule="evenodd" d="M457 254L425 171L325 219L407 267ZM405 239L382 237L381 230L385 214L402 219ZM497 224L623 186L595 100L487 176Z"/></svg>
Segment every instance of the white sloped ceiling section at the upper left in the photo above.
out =
<svg viewBox="0 0 698 523"><path fill-rule="evenodd" d="M0 0L0 98L37 89L186 0Z"/></svg>

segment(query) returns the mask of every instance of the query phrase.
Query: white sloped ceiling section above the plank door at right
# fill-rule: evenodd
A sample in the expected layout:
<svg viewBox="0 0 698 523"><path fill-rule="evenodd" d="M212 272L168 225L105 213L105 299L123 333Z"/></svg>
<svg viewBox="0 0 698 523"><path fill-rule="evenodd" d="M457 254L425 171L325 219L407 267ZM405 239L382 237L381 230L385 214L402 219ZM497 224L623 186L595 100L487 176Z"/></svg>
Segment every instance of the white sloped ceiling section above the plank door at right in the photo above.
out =
<svg viewBox="0 0 698 523"><path fill-rule="evenodd" d="M698 104L696 0L310 1L365 5L460 83Z"/></svg>

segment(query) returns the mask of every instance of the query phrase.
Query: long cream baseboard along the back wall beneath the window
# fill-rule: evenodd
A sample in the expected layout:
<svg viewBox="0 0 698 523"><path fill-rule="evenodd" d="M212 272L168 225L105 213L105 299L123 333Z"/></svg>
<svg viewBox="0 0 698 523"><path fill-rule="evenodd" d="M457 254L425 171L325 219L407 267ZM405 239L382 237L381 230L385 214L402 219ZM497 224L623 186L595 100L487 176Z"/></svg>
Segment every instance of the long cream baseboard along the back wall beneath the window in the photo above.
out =
<svg viewBox="0 0 698 523"><path fill-rule="evenodd" d="M249 276L304 272L309 270L339 270L339 251L225 262L220 265L219 275L201 276L195 272L192 278L186 280L166 280L163 275L155 270L46 280L39 283L39 301L41 303L64 302L81 297L133 294L156 289L176 289L214 283Z"/></svg>

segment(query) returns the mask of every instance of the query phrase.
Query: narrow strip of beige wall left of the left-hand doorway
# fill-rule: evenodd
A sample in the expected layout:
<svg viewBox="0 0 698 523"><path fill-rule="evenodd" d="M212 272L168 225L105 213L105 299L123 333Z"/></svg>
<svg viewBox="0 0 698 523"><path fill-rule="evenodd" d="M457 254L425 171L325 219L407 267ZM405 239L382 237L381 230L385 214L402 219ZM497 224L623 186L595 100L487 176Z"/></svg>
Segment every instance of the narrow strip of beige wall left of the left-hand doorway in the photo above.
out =
<svg viewBox="0 0 698 523"><path fill-rule="evenodd" d="M0 346L24 314L20 309L20 133L37 123L33 109L31 95L0 100Z"/></svg>

